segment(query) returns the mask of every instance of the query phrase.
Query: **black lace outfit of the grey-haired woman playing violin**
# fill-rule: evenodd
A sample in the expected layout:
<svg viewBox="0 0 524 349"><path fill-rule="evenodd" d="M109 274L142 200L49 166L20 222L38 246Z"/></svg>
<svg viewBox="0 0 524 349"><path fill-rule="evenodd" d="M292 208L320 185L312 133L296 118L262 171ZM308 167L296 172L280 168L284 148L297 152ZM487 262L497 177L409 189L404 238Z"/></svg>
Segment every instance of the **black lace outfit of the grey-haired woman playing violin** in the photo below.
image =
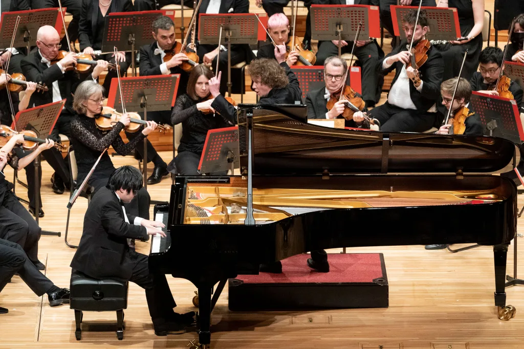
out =
<svg viewBox="0 0 524 349"><path fill-rule="evenodd" d="M95 119L85 115L78 115L71 121L71 144L74 147L74 154L77 159L78 178L77 185L80 185L89 171L99 158L100 153L113 146L113 149L120 155L127 155L132 151L136 144L145 138L140 134L128 143L124 143L119 132L124 128L122 122L117 122L111 131L101 131L96 127ZM107 152L102 155L95 171L89 177L88 184L94 187L94 193L106 186L109 176L115 171L111 156ZM135 216L149 219L149 203L151 198L145 188L138 190L138 194L126 204L128 212ZM93 201L91 201L93 202ZM90 204L91 205L91 204ZM89 210L89 208L88 208ZM87 217L87 216L86 216ZM85 229L85 224L84 224Z"/></svg>

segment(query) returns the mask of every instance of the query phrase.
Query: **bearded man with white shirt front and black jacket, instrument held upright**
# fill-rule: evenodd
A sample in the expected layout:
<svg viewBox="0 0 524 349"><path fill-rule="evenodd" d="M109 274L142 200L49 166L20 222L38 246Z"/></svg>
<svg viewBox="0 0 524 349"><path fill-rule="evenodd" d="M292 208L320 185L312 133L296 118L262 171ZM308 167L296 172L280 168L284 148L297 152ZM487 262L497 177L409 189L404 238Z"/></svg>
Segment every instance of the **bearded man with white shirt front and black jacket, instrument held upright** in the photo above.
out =
<svg viewBox="0 0 524 349"><path fill-rule="evenodd" d="M395 78L391 83L388 100L369 112L370 117L378 120L381 131L388 132L423 132L431 129L440 122L436 113L435 104L438 102L440 84L444 71L442 55L431 47L427 51L428 59L414 69L406 66L411 62L411 53L408 52L411 38L413 48L425 39L428 32L428 18L424 10L420 11L417 28L417 10L411 10L403 18L402 29L406 40L377 64L381 74L395 70ZM420 80L417 79L420 78ZM362 112L356 112L353 120L357 123L364 121Z"/></svg>

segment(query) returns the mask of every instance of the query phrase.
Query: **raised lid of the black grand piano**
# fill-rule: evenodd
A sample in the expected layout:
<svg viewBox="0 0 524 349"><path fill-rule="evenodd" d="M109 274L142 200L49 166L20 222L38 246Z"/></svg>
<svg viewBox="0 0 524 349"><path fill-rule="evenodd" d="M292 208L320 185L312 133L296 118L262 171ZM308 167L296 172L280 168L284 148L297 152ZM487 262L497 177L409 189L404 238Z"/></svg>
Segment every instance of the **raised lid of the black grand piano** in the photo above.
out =
<svg viewBox="0 0 524 349"><path fill-rule="evenodd" d="M501 138L333 129L304 123L293 107L239 105L242 173L247 173L249 114L255 175L490 174L511 171L520 160L516 145Z"/></svg>

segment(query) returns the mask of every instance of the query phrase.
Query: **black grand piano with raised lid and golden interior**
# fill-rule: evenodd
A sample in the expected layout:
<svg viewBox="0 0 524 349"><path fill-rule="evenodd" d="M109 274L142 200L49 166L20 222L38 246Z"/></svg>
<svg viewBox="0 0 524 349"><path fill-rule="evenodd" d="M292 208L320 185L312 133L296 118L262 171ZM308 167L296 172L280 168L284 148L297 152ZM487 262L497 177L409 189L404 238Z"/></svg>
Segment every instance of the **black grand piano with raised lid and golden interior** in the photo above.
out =
<svg viewBox="0 0 524 349"><path fill-rule="evenodd" d="M513 143L325 128L289 110L241 105L243 176L178 176L169 205L155 207L168 236L153 239L150 269L198 288L202 347L228 278L311 250L493 245L495 306L505 307L517 188L493 174L518 163Z"/></svg>

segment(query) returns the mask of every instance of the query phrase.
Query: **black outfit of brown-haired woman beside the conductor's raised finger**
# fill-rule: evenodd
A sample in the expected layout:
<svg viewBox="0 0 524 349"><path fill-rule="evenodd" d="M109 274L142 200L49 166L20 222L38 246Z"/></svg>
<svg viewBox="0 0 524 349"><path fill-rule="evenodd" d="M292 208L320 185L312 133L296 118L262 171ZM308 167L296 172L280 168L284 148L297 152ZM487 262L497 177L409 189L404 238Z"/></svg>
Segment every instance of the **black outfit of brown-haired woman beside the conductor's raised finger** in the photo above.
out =
<svg viewBox="0 0 524 349"><path fill-rule="evenodd" d="M177 157L174 158L177 172L181 176L200 175L197 168L209 130L231 127L236 123L233 114L226 113L223 116L204 114L196 108L196 104L202 101L203 99L195 101L188 94L183 94L177 98L171 114L173 125L182 123L182 138L180 139ZM225 98L224 102L228 104ZM219 174L223 173L215 173L215 175Z"/></svg>

